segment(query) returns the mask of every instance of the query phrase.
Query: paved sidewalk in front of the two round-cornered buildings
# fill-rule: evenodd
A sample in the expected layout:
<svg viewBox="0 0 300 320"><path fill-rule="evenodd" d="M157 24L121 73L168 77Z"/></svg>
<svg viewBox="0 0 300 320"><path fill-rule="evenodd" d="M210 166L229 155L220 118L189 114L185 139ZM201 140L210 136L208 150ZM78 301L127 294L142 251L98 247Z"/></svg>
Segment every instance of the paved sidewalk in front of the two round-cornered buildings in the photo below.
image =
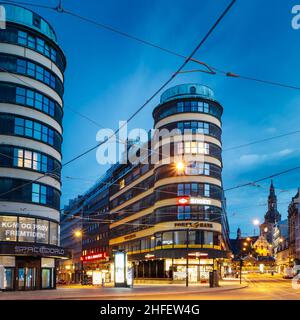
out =
<svg viewBox="0 0 300 320"><path fill-rule="evenodd" d="M220 287L209 288L207 285L136 285L134 288L102 288L102 287L85 287L85 286L71 286L59 287L57 290L44 291L28 291L28 292L2 292L0 293L0 300L71 300L71 299L107 299L107 298L132 298L149 296L149 295L176 295L186 293L212 293L231 291L246 288L247 283L242 285L235 281L222 281Z"/></svg>

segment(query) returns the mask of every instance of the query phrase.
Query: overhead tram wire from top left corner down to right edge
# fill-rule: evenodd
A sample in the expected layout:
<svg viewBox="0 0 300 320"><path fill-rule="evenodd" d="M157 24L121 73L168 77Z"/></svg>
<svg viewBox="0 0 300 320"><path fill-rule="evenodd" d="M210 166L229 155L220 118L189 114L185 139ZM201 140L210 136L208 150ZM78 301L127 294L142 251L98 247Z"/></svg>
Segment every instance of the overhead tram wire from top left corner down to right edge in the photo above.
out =
<svg viewBox="0 0 300 320"><path fill-rule="evenodd" d="M39 5L39 4L33 4L33 3L28 3L28 2L23 2L23 1L13 1L13 0L11 0L9 2L10 3L15 3L15 4L20 4L20 5L28 5L28 6L32 6L32 7L50 9L50 10L54 10L55 12L58 12L58 13L61 13L61 14L62 13L68 14L70 16L73 16L74 18L77 18L77 19L80 19L80 20L85 21L87 23L93 24L93 25L95 25L95 26L97 26L99 28L108 30L110 32L119 34L121 36L124 36L124 37L126 37L128 39L131 39L131 40L134 40L134 41L137 41L137 42L139 42L141 44L144 44L144 45L147 45L149 47L153 47L153 48L159 49L159 50L161 50L161 51L163 51L165 53L171 54L171 55L176 56L178 58L187 59L187 57L185 55L183 55L181 53L178 53L178 52L176 52L174 50L162 47L162 46L160 46L158 44L155 44L153 42L150 42L150 41L144 40L142 38L136 37L136 36L134 36L134 35L132 35L132 34L130 34L128 32L119 30L119 29L117 29L117 28L115 28L115 27L113 27L111 25L107 25L107 24L95 21L93 19L90 19L90 18L87 18L87 17L83 17L80 14L74 13L72 11L66 10L66 9L64 9L62 7L61 3L56 7L51 7L51 6L47 6L47 5ZM285 83L282 83L282 82L276 82L276 81L271 81L271 80L266 80L266 79L259 79L259 78L256 78L256 77L243 76L243 75L238 74L238 73L224 71L224 70L222 70L220 68L211 66L208 63L205 63L203 61L199 61L199 60L197 60L195 58L191 58L190 60L195 62L195 63L197 63L197 64L200 64L200 65L204 66L206 68L206 70L203 70L203 69L201 69L201 70L190 70L190 71L182 71L180 73L203 72L203 73L207 73L207 74L211 74L211 75L215 75L217 73L221 73L221 74L223 74L224 76L226 76L228 78L237 78L237 79L239 78L239 79L244 79L244 80L248 80L248 81L255 81L255 82L258 82L258 83L278 86L278 87L287 88L287 89L300 90L299 86L289 85L289 84L285 84Z"/></svg>

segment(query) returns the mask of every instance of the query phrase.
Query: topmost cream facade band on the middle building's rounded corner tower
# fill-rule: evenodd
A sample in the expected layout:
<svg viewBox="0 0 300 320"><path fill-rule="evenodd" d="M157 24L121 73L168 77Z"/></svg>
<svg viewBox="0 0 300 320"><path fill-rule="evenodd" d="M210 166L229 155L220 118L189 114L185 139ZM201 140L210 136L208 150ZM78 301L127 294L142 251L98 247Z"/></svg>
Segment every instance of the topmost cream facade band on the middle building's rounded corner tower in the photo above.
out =
<svg viewBox="0 0 300 320"><path fill-rule="evenodd" d="M173 122L181 121L205 121L215 124L220 129L222 128L221 121L214 116L202 113L178 113L158 121L155 125L155 129L159 129L162 126L165 126Z"/></svg>

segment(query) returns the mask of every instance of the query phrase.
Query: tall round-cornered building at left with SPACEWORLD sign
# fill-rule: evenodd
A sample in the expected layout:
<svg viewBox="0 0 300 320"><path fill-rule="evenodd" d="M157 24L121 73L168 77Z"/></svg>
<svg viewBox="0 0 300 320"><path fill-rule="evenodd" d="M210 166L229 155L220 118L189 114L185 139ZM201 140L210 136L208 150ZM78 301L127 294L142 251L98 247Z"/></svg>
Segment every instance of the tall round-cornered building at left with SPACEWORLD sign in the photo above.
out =
<svg viewBox="0 0 300 320"><path fill-rule="evenodd" d="M2 4L0 30L0 266L4 289L55 288L66 59L53 28ZM3 274L0 273L1 276Z"/></svg>

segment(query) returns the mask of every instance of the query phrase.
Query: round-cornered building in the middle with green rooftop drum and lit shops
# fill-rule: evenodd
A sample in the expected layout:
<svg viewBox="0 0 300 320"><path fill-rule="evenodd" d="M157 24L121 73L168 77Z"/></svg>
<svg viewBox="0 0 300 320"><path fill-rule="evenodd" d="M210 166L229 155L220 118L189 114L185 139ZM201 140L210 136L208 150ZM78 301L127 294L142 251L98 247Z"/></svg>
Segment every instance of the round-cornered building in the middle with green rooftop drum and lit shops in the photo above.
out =
<svg viewBox="0 0 300 320"><path fill-rule="evenodd" d="M222 184L222 113L206 86L168 89L153 111L154 128L187 135L176 143L169 141L166 156L162 139L161 161L124 165L115 172L110 245L128 253L136 278L185 280L188 269L189 280L201 282L208 281L213 270L225 271L230 251ZM153 150L153 144L144 147Z"/></svg>

